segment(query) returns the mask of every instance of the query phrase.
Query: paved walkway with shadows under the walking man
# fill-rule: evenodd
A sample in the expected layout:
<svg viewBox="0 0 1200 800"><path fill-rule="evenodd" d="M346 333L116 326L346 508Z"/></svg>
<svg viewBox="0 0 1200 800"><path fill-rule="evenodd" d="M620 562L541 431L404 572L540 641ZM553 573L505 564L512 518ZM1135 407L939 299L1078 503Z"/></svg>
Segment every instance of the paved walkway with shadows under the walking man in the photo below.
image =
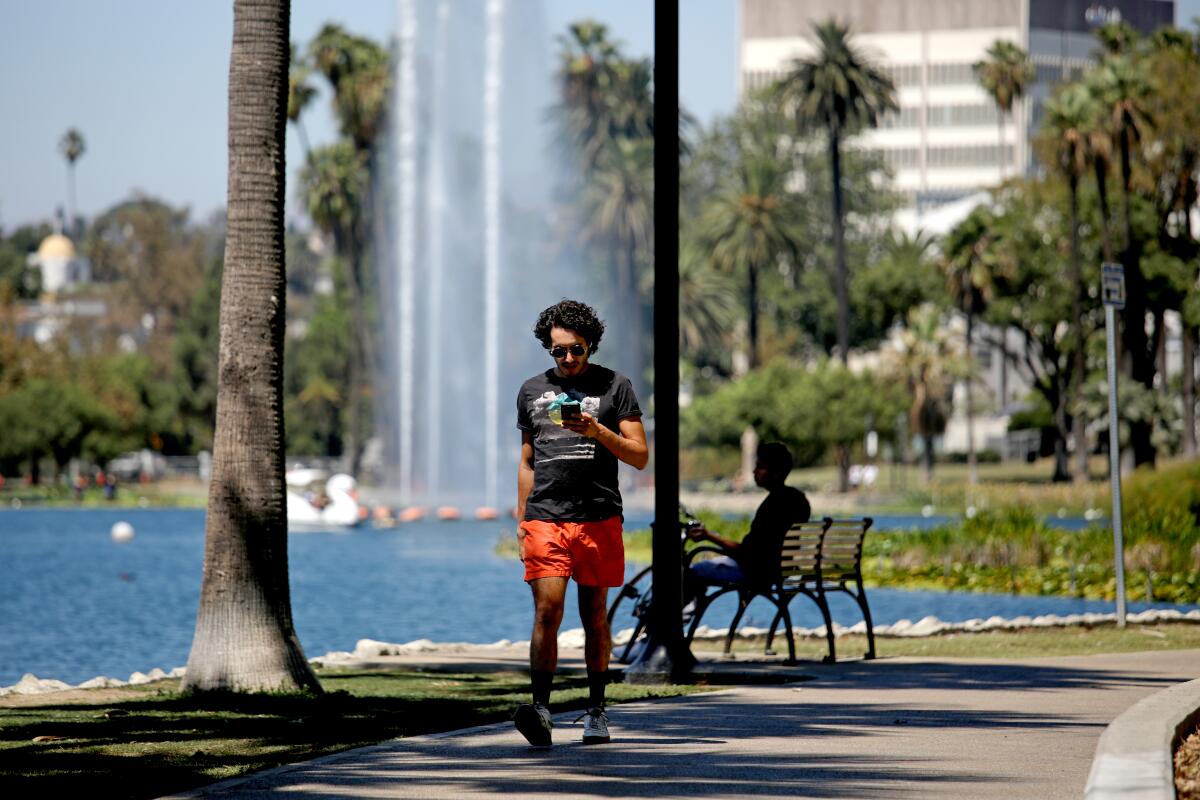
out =
<svg viewBox="0 0 1200 800"><path fill-rule="evenodd" d="M1080 798L1104 727L1142 697L1200 675L1200 650L800 670L812 680L613 706L607 746L583 747L575 715L559 715L548 751L505 723L186 796Z"/></svg>

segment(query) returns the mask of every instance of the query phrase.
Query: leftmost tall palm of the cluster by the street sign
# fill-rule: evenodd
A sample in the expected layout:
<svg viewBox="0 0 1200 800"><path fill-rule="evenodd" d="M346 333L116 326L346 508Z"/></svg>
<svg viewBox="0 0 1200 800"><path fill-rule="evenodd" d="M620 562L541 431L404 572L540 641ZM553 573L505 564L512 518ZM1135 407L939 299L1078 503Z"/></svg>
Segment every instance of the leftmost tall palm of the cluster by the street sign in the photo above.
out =
<svg viewBox="0 0 1200 800"><path fill-rule="evenodd" d="M1075 440L1075 482L1087 481L1087 434L1082 396L1087 379L1084 331L1084 271L1079 255L1079 182L1087 172L1088 130L1096 118L1096 101L1082 84L1067 84L1045 103L1042 130L1034 149L1043 163L1067 179L1070 196L1070 283L1072 325L1075 329L1073 354L1074 384L1072 395L1072 438ZM1062 404L1060 404L1062 405ZM1064 413L1060 410L1060 413Z"/></svg>

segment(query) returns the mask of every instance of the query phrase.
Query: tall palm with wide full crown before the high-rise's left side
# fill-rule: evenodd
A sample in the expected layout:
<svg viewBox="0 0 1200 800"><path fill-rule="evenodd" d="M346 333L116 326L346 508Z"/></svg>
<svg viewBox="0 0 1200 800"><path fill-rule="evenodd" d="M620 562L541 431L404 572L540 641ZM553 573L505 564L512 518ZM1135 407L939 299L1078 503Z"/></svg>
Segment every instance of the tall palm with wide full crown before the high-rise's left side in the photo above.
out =
<svg viewBox="0 0 1200 800"><path fill-rule="evenodd" d="M828 137L833 181L833 245L838 295L838 350L850 357L850 276L846 267L845 203L841 144L859 128L875 127L882 114L899 110L892 79L859 53L850 29L829 19L812 26L815 52L792 61L776 85L798 127Z"/></svg>

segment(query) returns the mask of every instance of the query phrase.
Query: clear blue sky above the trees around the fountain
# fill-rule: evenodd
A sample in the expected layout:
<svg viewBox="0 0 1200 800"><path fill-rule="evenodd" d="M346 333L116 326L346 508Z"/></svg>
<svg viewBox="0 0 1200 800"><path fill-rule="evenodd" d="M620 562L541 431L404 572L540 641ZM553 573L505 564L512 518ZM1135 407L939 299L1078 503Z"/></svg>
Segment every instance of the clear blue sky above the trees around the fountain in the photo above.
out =
<svg viewBox="0 0 1200 800"><path fill-rule="evenodd" d="M422 0L424 1L424 0ZM1195 0L1200 4L1200 0ZM292 38L325 22L384 41L396 0L293 0ZM708 122L736 102L737 0L684 0L680 96ZM552 36L582 18L608 24L630 55L653 50L650 0L544 0ZM78 127L80 213L133 191L206 218L226 198L226 82L232 0L0 0L0 227L50 219L66 203L58 142ZM328 100L306 130L334 137ZM299 144L288 134L288 161ZM289 203L293 190L289 185Z"/></svg>

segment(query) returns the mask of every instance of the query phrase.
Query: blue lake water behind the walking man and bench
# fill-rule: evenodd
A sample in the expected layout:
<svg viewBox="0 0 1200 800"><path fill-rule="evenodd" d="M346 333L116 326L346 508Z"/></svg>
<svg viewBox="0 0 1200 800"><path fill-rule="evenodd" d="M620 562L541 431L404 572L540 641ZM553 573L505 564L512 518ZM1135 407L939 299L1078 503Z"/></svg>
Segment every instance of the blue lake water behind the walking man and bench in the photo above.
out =
<svg viewBox="0 0 1200 800"><path fill-rule="evenodd" d="M133 525L133 541L112 540L118 521ZM292 603L305 652L353 650L360 638L528 639L532 602L521 565L493 552L511 531L508 521L430 521L292 534ZM2 511L0 545L0 686L26 672L76 684L186 663L203 569L203 511ZM928 614L956 621L1112 610L1111 603L1060 597L883 589L869 597L876 624ZM1148 607L1132 603L1130 610ZM751 606L745 624L766 626L769 610ZM799 626L821 624L812 603L794 603L793 610ZM714 604L704 622L720 627L731 616L732 607ZM859 618L846 601L835 604L834 619L852 625ZM577 627L577 620L569 596L563 627ZM626 618L614 628L630 625Z"/></svg>

